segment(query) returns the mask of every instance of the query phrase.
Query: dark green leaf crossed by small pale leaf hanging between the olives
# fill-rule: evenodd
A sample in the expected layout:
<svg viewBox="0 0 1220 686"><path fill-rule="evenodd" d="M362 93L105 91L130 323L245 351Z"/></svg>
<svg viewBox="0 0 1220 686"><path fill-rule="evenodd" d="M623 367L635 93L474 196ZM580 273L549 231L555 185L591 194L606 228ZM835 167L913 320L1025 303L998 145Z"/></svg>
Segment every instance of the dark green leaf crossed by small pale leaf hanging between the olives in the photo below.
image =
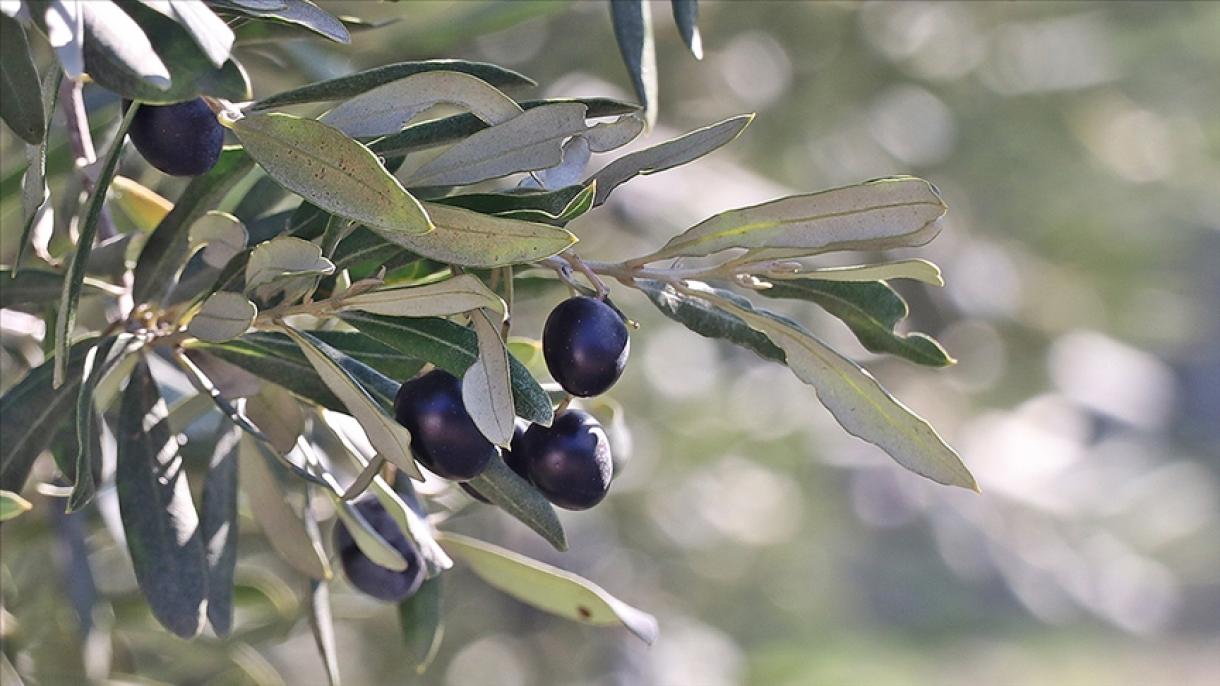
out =
<svg viewBox="0 0 1220 686"><path fill-rule="evenodd" d="M414 359L427 360L461 377L478 359L478 339L473 331L442 319L390 319L364 312L343 312L345 322L390 348ZM517 416L550 426L554 417L550 398L515 358L509 358L512 377L512 403Z"/></svg>

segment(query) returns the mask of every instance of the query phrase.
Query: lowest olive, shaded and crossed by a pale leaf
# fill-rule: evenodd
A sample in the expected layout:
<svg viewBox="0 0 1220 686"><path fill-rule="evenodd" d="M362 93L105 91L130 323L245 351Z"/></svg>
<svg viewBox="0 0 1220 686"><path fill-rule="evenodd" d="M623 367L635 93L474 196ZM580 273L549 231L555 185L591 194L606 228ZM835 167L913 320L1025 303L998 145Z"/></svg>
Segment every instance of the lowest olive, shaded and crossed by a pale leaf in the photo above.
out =
<svg viewBox="0 0 1220 686"><path fill-rule="evenodd" d="M346 525L339 521L334 526L334 548L348 581L361 593L379 601L396 603L409 598L423 583L423 557L375 498L357 500L355 507L373 530L403 555L406 569L394 571L370 560L356 546Z"/></svg>

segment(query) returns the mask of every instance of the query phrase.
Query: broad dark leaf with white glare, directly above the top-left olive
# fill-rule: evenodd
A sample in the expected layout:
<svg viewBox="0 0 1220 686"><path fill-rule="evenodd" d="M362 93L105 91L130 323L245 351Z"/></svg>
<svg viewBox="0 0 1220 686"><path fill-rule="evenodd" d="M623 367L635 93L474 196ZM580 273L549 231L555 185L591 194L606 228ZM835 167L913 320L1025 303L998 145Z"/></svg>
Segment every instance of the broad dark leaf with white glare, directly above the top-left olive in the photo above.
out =
<svg viewBox="0 0 1220 686"><path fill-rule="evenodd" d="M250 99L250 79L232 57L217 67L174 20L123 2L83 2L84 61L99 85L124 98L167 105L212 95Z"/></svg>

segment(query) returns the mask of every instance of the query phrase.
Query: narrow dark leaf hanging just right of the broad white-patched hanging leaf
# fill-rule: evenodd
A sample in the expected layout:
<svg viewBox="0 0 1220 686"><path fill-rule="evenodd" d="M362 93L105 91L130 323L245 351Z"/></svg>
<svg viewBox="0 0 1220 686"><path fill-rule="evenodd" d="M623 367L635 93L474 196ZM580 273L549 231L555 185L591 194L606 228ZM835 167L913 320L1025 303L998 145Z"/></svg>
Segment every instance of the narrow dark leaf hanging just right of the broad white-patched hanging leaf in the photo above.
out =
<svg viewBox="0 0 1220 686"><path fill-rule="evenodd" d="M233 570L237 566L237 474L242 430L222 425L204 478L203 531L207 559L207 621L217 636L233 626Z"/></svg>

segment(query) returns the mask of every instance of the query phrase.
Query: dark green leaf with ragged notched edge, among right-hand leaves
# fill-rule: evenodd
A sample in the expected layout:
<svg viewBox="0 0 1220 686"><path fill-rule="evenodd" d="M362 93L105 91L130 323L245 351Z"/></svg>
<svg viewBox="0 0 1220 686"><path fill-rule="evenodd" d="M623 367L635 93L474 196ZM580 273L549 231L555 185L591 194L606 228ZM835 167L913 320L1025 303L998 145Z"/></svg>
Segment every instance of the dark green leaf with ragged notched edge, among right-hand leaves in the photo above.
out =
<svg viewBox="0 0 1220 686"><path fill-rule="evenodd" d="M817 303L824 310L843 320L870 352L897 355L933 367L954 363L930 336L894 332L894 326L906 319L909 309L906 300L883 281L848 283L793 278L776 281L770 288L760 289L759 294Z"/></svg>

